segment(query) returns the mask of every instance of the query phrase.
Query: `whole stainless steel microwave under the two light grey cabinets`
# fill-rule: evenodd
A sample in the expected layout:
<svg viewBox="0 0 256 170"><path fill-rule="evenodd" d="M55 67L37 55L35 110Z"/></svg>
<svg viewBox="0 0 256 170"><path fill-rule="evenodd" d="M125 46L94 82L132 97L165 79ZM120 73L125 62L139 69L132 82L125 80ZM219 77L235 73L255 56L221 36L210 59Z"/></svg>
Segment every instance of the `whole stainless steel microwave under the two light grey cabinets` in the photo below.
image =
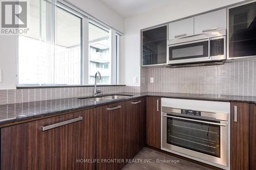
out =
<svg viewBox="0 0 256 170"><path fill-rule="evenodd" d="M226 60L226 30L168 41L168 64Z"/></svg>

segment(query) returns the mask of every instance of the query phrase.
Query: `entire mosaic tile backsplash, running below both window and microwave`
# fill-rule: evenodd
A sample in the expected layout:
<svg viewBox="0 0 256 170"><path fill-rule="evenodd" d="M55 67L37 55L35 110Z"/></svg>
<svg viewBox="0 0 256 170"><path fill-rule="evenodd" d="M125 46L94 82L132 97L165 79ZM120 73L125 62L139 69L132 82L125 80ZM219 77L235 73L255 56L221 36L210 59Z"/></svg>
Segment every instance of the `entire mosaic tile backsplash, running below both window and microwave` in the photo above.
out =
<svg viewBox="0 0 256 170"><path fill-rule="evenodd" d="M199 67L141 67L139 86L98 87L104 93L174 92L256 96L256 60ZM154 83L150 83L150 78ZM94 87L0 90L0 105L93 95Z"/></svg>

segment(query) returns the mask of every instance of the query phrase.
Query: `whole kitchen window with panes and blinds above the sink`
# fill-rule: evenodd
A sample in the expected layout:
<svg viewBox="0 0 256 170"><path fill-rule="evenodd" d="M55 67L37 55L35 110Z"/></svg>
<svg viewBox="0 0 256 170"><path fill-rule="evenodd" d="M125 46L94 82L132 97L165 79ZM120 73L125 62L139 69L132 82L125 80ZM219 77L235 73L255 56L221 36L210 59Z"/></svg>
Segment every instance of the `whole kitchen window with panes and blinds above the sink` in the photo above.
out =
<svg viewBox="0 0 256 170"><path fill-rule="evenodd" d="M99 84L117 84L114 29L54 0L28 6L29 32L18 36L17 86L93 84L96 71Z"/></svg>

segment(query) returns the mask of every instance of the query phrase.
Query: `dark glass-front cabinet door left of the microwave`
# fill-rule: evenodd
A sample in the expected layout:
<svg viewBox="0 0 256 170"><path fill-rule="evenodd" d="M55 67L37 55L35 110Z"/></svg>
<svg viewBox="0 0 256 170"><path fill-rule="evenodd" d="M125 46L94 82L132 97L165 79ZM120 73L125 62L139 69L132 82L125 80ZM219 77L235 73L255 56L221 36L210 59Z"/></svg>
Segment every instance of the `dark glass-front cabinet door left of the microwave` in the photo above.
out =
<svg viewBox="0 0 256 170"><path fill-rule="evenodd" d="M141 32L142 66L166 64L167 26Z"/></svg>

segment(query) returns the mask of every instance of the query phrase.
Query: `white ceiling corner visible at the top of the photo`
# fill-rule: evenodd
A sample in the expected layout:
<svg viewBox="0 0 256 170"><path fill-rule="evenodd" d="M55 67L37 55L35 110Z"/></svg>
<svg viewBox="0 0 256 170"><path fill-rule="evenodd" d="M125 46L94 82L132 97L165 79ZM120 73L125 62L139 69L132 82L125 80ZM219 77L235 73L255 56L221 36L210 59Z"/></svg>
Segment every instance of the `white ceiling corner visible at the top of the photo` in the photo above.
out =
<svg viewBox="0 0 256 170"><path fill-rule="evenodd" d="M123 17L137 15L171 4L173 0L100 0Z"/></svg>

